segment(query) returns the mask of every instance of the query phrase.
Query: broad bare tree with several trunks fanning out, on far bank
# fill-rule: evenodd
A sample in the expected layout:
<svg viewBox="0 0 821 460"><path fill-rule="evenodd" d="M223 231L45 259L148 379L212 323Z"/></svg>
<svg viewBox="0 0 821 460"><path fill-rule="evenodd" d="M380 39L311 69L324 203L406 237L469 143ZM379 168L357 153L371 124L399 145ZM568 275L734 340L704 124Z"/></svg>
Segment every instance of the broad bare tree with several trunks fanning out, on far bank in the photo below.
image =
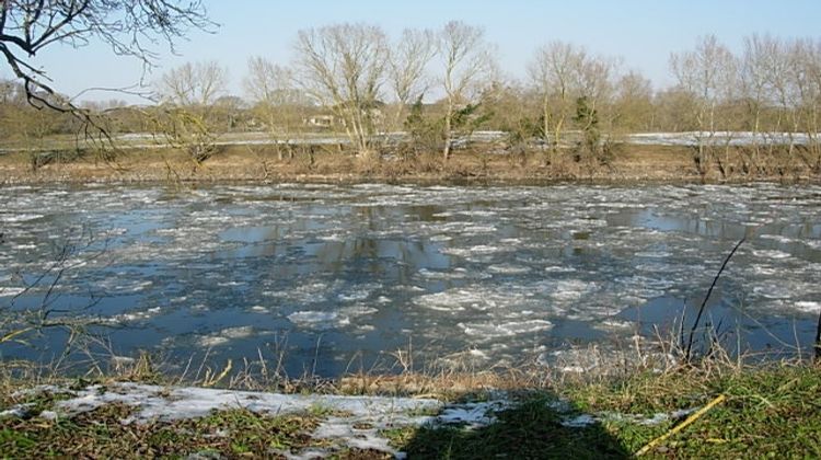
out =
<svg viewBox="0 0 821 460"><path fill-rule="evenodd" d="M373 154L385 81L388 38L372 25L336 24L300 31L296 68L304 90L342 119L360 154Z"/></svg>

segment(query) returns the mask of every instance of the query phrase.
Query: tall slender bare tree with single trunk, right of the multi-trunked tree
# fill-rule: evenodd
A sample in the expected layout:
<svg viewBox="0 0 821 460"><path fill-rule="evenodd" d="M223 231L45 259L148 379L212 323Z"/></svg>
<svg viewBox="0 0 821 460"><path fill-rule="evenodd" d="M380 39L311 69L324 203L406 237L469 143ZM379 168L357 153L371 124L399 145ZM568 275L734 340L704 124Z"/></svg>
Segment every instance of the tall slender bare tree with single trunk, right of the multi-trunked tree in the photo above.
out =
<svg viewBox="0 0 821 460"><path fill-rule="evenodd" d="M456 112L474 102L482 83L494 70L494 59L482 28L451 21L439 32L438 54L442 60L441 84L446 94L443 157L450 158L453 119Z"/></svg>

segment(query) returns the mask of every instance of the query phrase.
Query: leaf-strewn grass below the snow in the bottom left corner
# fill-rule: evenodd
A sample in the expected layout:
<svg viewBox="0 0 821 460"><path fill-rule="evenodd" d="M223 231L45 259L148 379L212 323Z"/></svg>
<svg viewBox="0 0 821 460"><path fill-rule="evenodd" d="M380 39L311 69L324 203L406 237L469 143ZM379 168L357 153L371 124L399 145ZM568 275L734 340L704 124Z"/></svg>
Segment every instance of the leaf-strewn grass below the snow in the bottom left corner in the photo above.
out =
<svg viewBox="0 0 821 460"><path fill-rule="evenodd" d="M207 417L151 424L123 424L134 409L111 404L71 418L0 419L3 458L181 458L217 453L282 456L305 447L324 447L310 432L310 414L265 416L245 410Z"/></svg>

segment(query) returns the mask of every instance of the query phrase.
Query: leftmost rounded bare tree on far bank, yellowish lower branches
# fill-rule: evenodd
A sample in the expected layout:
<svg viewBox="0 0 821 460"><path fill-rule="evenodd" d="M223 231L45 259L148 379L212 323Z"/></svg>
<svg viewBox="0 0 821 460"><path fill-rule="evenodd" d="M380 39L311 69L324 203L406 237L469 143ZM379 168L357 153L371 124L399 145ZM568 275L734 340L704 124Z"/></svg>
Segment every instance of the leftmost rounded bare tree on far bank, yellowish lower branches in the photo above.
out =
<svg viewBox="0 0 821 460"><path fill-rule="evenodd" d="M217 61L185 64L158 83L162 110L159 130L169 143L188 152L196 164L216 153L213 111L228 85L228 70Z"/></svg>

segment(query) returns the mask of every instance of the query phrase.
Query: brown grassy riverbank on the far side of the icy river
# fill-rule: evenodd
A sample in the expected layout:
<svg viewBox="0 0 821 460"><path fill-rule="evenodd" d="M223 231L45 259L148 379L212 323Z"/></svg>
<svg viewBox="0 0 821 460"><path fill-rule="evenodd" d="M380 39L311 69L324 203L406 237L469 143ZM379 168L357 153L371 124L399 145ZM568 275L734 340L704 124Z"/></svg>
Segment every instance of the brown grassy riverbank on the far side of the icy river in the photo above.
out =
<svg viewBox="0 0 821 460"><path fill-rule="evenodd" d="M273 146L222 146L219 153L195 163L178 150L127 149L113 161L101 153L16 152L0 156L0 183L85 183L85 182L463 182L463 183L545 183L586 182L721 182L818 181L809 163L773 159L756 172L749 171L745 153L732 148L724 162L701 174L686 146L624 145L606 163L581 159L573 152L554 154L550 164L545 153L528 151L509 153L460 150L447 162L440 153L410 158L390 154L381 160L363 159L334 148L302 151L293 158L279 158ZM36 169L34 168L36 163ZM721 172L724 171L724 172Z"/></svg>

